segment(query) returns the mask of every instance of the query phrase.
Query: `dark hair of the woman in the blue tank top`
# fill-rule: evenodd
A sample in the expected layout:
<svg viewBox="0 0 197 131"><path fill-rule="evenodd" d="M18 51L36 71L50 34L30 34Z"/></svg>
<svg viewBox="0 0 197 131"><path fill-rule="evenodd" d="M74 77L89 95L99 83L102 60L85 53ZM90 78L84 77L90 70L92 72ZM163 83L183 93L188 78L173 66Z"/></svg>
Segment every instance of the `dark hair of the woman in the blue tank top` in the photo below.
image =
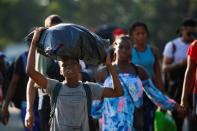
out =
<svg viewBox="0 0 197 131"><path fill-rule="evenodd" d="M136 27L143 27L146 30L147 35L149 36L149 30L148 30L147 25L145 23L141 22L141 21L136 21L130 26L130 28L129 28L129 36L133 35L133 32L136 29Z"/></svg>

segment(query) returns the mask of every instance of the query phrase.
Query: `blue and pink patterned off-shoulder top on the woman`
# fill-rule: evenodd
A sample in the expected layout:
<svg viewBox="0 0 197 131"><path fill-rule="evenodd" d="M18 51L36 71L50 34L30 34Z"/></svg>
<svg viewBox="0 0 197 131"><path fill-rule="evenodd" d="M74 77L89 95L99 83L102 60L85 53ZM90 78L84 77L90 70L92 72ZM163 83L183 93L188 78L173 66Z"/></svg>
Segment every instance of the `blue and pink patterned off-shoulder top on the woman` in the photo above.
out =
<svg viewBox="0 0 197 131"><path fill-rule="evenodd" d="M120 73L119 79L124 90L124 96L105 98L103 101L94 101L92 116L102 118L103 131L133 131L134 110L143 104L143 91L151 100L166 109L172 109L175 102L164 96L151 80L141 82L137 75ZM111 76L107 77L104 87L112 87Z"/></svg>

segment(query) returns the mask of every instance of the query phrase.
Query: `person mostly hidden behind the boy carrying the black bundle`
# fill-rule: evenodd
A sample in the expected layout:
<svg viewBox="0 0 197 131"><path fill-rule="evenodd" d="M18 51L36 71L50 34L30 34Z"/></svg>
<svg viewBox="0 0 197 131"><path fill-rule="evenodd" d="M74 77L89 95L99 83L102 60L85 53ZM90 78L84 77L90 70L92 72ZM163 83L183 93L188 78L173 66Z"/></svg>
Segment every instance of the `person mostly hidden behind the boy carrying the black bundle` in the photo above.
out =
<svg viewBox="0 0 197 131"><path fill-rule="evenodd" d="M60 16L52 14L49 15L44 22L45 27L51 27L62 23ZM53 59L48 58L40 53L36 53L36 69L45 76L55 78L59 81L63 81L64 78L60 75L59 65ZM25 126L31 129L35 123L35 115L33 113L33 105L35 101L37 85L31 79L28 81L26 97L27 97L27 114L25 117ZM50 118L50 98L47 93L38 88L38 111L40 115L40 127L41 131L49 131L49 118Z"/></svg>

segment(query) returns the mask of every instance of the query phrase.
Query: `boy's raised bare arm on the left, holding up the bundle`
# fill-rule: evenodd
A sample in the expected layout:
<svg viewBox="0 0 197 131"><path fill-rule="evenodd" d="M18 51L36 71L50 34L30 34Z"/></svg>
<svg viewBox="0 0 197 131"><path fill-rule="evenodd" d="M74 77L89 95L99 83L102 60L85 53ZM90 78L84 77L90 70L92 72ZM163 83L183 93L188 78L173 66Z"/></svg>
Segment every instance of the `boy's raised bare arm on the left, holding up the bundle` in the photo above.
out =
<svg viewBox="0 0 197 131"><path fill-rule="evenodd" d="M47 79L37 72L35 70L35 52L36 52L36 43L39 40L41 32L44 30L44 28L39 27L36 28L34 31L34 36L31 42L31 46L29 49L29 54L28 54L28 61L27 61L27 74L29 77L39 85L41 88L46 88L47 86Z"/></svg>

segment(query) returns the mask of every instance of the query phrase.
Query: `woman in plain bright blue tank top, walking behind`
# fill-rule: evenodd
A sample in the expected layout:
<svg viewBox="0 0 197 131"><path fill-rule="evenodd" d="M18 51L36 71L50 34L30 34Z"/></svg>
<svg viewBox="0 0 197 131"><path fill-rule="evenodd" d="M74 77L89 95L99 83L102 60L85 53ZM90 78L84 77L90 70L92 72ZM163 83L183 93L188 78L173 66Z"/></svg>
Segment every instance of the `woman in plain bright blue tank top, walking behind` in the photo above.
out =
<svg viewBox="0 0 197 131"><path fill-rule="evenodd" d="M149 30L145 23L137 21L129 28L129 35L134 42L131 49L131 61L136 65L141 65L147 71L149 77L160 91L164 91L164 85L161 78L160 55L156 47L150 45ZM156 106L144 94L143 114L144 114L144 130L154 130Z"/></svg>

